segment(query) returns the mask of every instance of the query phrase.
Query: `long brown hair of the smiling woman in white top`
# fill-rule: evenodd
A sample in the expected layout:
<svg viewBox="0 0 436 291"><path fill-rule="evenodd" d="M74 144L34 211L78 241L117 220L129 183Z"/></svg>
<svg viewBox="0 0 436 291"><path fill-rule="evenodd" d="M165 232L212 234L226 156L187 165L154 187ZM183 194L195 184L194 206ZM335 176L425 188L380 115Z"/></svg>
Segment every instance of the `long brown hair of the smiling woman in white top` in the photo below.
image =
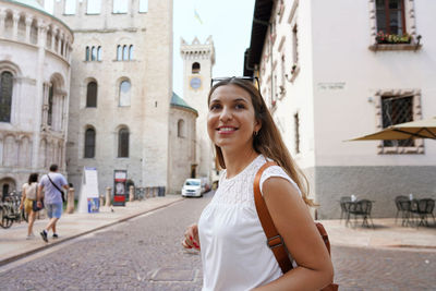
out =
<svg viewBox="0 0 436 291"><path fill-rule="evenodd" d="M234 85L246 90L252 99L254 116L256 120L261 121L262 128L253 137L253 148L258 154L264 155L267 158L272 159L289 174L289 177L299 186L304 202L310 206L315 206L312 199L307 198L308 195L308 182L302 170L296 166L295 161L289 154L286 147L281 134L278 131L276 123L264 101L258 89L253 85L252 82L244 78L229 77L226 78L210 88L207 104L210 102L210 96L220 86ZM215 162L218 168L226 169L226 162L222 156L221 148L215 145Z"/></svg>

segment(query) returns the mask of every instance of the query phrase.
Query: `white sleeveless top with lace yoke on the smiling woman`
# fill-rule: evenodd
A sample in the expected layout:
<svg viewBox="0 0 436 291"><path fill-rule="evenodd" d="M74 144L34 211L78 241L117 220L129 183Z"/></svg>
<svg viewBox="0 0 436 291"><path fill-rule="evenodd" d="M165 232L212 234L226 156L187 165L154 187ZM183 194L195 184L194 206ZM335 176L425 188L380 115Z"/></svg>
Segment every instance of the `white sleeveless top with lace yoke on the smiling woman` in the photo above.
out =
<svg viewBox="0 0 436 291"><path fill-rule="evenodd" d="M259 155L231 179L226 179L225 170L215 196L199 217L204 291L252 290L282 275L266 245L254 204L254 177L265 162ZM283 169L272 166L262 174L261 191L270 177L283 178L298 189Z"/></svg>

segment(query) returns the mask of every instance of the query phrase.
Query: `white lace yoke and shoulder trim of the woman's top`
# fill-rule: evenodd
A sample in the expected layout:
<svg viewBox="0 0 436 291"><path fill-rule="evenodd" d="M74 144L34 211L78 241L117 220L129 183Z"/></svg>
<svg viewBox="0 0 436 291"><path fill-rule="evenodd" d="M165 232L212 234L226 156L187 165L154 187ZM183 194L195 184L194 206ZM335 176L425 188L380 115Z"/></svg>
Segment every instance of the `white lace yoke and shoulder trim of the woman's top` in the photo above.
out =
<svg viewBox="0 0 436 291"><path fill-rule="evenodd" d="M244 170L235 177L226 179L227 171L223 170L219 178L219 187L214 195L210 204L234 204L254 205L253 182L258 169L266 162L263 155L257 156ZM295 182L279 166L269 167L261 177L261 192L265 180L270 177L280 177L288 180L296 189Z"/></svg>

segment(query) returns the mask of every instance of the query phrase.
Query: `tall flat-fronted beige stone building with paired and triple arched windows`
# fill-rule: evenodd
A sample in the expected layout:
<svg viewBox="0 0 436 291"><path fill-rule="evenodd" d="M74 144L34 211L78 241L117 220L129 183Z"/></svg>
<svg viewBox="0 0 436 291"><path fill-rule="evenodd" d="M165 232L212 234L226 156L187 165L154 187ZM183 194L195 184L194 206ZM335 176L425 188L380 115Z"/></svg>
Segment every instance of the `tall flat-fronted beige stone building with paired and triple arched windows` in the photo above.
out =
<svg viewBox="0 0 436 291"><path fill-rule="evenodd" d="M81 185L83 168L96 167L100 193L114 170L168 190L172 1L56 1L53 15L75 39L69 181Z"/></svg>

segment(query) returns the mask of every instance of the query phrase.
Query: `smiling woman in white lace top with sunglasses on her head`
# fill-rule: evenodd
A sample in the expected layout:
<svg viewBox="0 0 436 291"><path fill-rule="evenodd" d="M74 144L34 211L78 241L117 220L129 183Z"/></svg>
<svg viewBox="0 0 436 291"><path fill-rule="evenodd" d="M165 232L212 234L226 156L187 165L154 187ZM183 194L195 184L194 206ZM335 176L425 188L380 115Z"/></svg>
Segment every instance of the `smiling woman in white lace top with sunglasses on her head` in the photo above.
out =
<svg viewBox="0 0 436 291"><path fill-rule="evenodd" d="M223 171L182 244L201 250L203 290L319 290L332 282L334 269L308 211L314 203L254 81L225 78L209 92L207 131ZM294 268L284 275L254 203L254 178L271 160L278 166L263 172L259 185L292 256Z"/></svg>

